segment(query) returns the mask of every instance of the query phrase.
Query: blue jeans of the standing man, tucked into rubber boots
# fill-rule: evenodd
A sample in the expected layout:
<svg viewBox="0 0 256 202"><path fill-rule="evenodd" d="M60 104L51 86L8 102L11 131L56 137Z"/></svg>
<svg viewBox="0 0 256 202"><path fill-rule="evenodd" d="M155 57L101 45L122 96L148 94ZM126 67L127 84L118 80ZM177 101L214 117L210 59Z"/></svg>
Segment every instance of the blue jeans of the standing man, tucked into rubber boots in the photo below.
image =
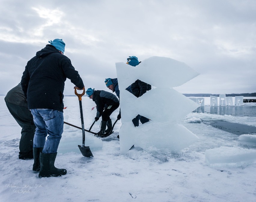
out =
<svg viewBox="0 0 256 202"><path fill-rule="evenodd" d="M56 153L63 132L63 112L53 109L31 109L36 126L33 147L44 147L42 153ZM45 138L47 136L47 140Z"/></svg>

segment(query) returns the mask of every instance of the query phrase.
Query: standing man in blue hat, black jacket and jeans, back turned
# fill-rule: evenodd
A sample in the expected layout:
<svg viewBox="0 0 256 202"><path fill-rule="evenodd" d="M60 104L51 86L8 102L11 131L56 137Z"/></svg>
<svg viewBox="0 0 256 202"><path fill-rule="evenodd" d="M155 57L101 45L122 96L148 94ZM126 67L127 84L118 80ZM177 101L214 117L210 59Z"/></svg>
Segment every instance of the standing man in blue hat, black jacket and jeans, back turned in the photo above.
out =
<svg viewBox="0 0 256 202"><path fill-rule="evenodd" d="M84 88L70 59L63 55L65 43L62 39L54 39L49 43L27 62L21 79L22 90L36 125L33 171L40 169L38 177L57 177L67 173L66 169L54 166L63 132L65 81L68 78L76 85L74 88Z"/></svg>

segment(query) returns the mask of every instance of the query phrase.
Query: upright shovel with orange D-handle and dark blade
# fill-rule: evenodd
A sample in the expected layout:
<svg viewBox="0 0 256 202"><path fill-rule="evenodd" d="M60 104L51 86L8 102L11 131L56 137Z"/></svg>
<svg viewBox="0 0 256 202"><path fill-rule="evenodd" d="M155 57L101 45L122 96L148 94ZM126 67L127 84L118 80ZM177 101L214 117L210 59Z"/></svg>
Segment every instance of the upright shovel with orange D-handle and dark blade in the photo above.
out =
<svg viewBox="0 0 256 202"><path fill-rule="evenodd" d="M84 91L83 91L82 94L78 94L77 91L76 91L76 88L75 88L75 94L78 96L78 100L79 100L80 114L81 114L81 123L82 123L82 132L83 132L83 144L82 144L82 146L78 145L78 148L80 149L80 151L81 151L83 156L85 156L85 157L93 157L93 154L92 154L92 152L90 150L90 147L89 146L87 146L87 147L84 146L85 134L84 134L84 117L83 117L83 109L82 109L82 96L85 93L85 89L83 88L83 90Z"/></svg>

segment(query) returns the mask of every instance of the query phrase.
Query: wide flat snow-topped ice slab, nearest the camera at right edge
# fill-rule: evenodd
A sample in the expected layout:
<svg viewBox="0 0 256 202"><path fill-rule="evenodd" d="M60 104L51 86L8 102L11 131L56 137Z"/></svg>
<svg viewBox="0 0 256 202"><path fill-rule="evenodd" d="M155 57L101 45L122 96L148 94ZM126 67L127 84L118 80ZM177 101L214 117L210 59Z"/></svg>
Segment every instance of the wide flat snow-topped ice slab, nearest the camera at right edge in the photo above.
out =
<svg viewBox="0 0 256 202"><path fill-rule="evenodd" d="M256 150L219 147L205 151L206 164L214 168L236 168L256 162Z"/></svg>

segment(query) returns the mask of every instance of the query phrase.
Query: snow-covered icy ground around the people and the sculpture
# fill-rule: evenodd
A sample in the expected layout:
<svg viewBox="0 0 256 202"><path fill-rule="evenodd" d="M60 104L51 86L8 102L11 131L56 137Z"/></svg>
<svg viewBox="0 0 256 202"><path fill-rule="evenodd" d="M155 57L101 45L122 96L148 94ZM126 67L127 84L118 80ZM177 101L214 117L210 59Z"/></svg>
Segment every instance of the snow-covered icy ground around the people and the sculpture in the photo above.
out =
<svg viewBox="0 0 256 202"><path fill-rule="evenodd" d="M65 121L81 127L78 98L65 97L64 101ZM89 129L96 115L96 109L91 110L95 103L87 97L82 102L85 129ZM208 102L205 98L205 105ZM113 121L118 111L112 114ZM86 158L77 146L82 144L81 130L65 124L55 166L66 168L67 174L40 179L32 171L33 160L18 159L21 128L0 96L0 201L256 201L255 139L244 147L254 137L239 138L202 120L256 126L256 117L190 113L178 122L200 139L180 153L148 153L135 145L120 155L118 121L108 138L85 133L85 146L90 146L94 156ZM94 124L93 132L99 131L99 124ZM160 135L157 129L156 135ZM248 154L250 161L230 164L230 151L234 156L236 152ZM209 163L214 153L226 154L224 164ZM220 160L218 155L214 160Z"/></svg>

